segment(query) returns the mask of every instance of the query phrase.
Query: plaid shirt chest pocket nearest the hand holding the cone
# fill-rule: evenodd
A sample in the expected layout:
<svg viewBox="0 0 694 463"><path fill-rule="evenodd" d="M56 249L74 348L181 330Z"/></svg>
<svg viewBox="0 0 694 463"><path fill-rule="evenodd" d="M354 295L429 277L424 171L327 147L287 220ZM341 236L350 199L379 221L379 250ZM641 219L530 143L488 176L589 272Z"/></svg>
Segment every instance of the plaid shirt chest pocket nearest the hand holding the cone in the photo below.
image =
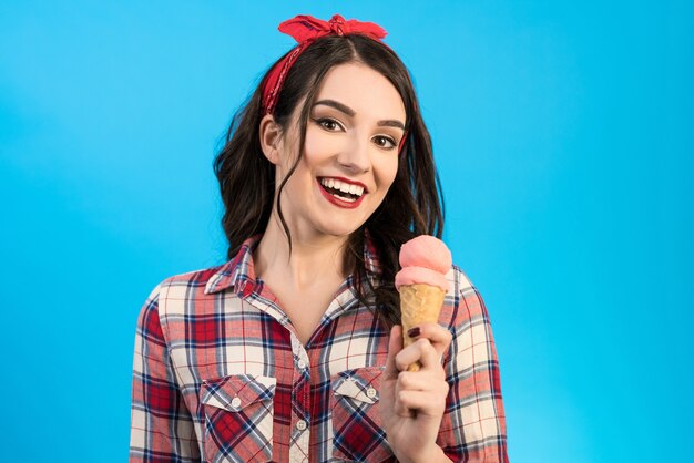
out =
<svg viewBox="0 0 694 463"><path fill-rule="evenodd" d="M344 371L331 379L335 459L381 462L392 456L378 408L382 372L380 367L359 368Z"/></svg>

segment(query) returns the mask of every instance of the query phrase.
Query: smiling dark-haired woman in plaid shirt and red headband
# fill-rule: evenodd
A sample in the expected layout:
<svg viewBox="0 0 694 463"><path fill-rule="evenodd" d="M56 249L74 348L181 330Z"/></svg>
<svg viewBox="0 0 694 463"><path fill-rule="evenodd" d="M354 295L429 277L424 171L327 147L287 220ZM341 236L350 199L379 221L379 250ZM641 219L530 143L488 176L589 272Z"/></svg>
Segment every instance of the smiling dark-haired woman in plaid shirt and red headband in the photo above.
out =
<svg viewBox="0 0 694 463"><path fill-rule="evenodd" d="M458 267L441 325L402 348L398 251L443 225L407 69L374 23L280 31L299 44L215 161L229 261L141 311L131 461L508 461L487 309Z"/></svg>

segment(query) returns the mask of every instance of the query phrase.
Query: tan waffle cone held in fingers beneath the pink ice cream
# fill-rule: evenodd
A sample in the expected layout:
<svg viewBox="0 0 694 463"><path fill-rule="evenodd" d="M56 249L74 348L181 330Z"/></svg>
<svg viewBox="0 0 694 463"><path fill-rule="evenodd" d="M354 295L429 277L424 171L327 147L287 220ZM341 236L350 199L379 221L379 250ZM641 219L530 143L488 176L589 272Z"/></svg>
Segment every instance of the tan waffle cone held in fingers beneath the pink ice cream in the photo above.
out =
<svg viewBox="0 0 694 463"><path fill-rule="evenodd" d="M402 347L408 347L416 339L407 336L410 328L420 323L437 323L443 305L446 291L431 285L406 285L400 289L400 313L402 320ZM419 371L419 362L409 366L407 371Z"/></svg>

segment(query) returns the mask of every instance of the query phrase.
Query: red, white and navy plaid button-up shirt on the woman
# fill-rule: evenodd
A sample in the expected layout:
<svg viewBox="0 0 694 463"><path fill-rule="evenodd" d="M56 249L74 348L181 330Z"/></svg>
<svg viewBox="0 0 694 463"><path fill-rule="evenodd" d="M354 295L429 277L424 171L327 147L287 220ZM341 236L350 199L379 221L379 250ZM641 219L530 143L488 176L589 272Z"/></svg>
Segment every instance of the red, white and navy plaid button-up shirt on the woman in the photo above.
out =
<svg viewBox="0 0 694 463"><path fill-rule="evenodd" d="M388 328L348 277L306 346L253 270L231 261L171 277L135 339L131 462L396 461L378 410ZM367 275L378 281L370 240ZM437 443L453 461L508 462L499 364L477 289L453 266L439 322L453 335Z"/></svg>

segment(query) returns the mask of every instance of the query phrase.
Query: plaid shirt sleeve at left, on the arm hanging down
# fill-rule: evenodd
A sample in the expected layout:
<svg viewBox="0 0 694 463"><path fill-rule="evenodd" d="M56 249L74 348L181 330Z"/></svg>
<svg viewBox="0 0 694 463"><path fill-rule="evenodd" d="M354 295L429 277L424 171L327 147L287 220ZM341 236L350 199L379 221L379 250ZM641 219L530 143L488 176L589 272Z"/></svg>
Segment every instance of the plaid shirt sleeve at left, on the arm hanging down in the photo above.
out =
<svg viewBox="0 0 694 463"><path fill-rule="evenodd" d="M137 319L130 462L200 462L193 419L178 389L159 317L159 289Z"/></svg>

